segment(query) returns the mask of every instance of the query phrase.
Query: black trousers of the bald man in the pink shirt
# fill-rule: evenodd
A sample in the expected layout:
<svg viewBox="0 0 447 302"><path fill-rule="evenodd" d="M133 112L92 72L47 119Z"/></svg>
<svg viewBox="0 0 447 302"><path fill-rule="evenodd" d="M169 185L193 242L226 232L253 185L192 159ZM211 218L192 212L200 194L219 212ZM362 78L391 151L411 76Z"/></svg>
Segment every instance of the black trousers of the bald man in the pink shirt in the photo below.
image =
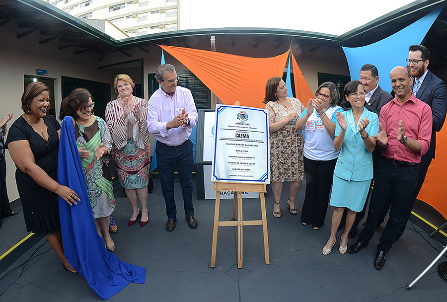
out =
<svg viewBox="0 0 447 302"><path fill-rule="evenodd" d="M413 188L418 177L418 165L394 165L382 158L376 169L373 198L368 210L365 228L359 234L359 241L366 243L373 238L375 226L389 211L389 219L380 237L377 250L388 252L399 238L399 230L405 218L405 209L411 202Z"/></svg>

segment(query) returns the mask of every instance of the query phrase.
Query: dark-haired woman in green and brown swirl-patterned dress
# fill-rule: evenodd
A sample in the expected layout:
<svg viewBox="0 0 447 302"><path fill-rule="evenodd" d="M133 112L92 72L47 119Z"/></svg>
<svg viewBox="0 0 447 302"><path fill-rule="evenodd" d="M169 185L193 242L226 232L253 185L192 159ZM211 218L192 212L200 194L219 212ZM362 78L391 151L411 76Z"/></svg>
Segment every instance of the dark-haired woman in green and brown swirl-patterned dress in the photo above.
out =
<svg viewBox="0 0 447 302"><path fill-rule="evenodd" d="M87 89L76 88L68 96L64 112L74 119L74 135L96 229L107 249L113 252L115 243L110 236L109 226L110 214L115 209L115 198L112 175L107 166L112 138L104 120L93 114L94 105Z"/></svg>

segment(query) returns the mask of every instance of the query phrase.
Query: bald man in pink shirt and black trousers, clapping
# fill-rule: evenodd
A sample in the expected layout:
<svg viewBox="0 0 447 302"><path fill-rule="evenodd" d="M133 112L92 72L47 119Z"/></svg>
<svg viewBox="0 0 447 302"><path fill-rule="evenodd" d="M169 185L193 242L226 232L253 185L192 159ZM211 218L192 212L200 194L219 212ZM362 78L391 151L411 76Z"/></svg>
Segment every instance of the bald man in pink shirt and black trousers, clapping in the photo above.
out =
<svg viewBox="0 0 447 302"><path fill-rule="evenodd" d="M374 137L382 149L375 171L373 198L368 211L365 228L359 239L348 248L357 253L373 238L374 229L389 211L389 219L377 244L374 267L381 269L385 254L399 237L400 226L406 224L405 207L410 202L418 178L418 163L430 147L432 135L432 110L411 92L413 77L403 66L393 68L391 85L394 99L380 111L380 132Z"/></svg>

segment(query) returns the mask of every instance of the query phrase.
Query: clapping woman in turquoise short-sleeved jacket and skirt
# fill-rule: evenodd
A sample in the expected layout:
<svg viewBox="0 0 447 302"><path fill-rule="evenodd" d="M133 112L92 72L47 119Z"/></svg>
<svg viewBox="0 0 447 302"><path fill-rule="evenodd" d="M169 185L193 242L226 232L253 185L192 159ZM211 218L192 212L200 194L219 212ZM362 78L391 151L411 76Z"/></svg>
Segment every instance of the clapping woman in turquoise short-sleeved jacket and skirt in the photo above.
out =
<svg viewBox="0 0 447 302"><path fill-rule="evenodd" d="M328 255L336 241L338 226L345 208L346 225L340 239L339 251L346 253L348 233L356 213L362 211L373 178L374 135L378 133L378 116L365 107L365 90L355 80L346 84L343 96L348 102L347 111L337 112L334 149L340 150L334 170L330 205L335 207L332 214L331 235L323 247Z"/></svg>

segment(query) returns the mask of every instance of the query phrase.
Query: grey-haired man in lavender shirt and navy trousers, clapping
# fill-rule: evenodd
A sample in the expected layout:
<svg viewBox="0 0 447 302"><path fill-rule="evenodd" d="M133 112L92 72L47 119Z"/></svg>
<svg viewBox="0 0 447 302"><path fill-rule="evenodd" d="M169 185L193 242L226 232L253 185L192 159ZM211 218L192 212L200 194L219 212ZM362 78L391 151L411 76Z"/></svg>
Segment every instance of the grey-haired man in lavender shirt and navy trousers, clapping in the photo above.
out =
<svg viewBox="0 0 447 302"><path fill-rule="evenodd" d="M177 86L174 66L163 64L155 78L160 84L148 102L148 130L157 140L157 168L161 192L166 203L166 230L173 231L177 221L174 200L174 163L182 187L185 217L190 228L198 226L192 202L193 143L189 139L197 123L197 109L191 91Z"/></svg>

